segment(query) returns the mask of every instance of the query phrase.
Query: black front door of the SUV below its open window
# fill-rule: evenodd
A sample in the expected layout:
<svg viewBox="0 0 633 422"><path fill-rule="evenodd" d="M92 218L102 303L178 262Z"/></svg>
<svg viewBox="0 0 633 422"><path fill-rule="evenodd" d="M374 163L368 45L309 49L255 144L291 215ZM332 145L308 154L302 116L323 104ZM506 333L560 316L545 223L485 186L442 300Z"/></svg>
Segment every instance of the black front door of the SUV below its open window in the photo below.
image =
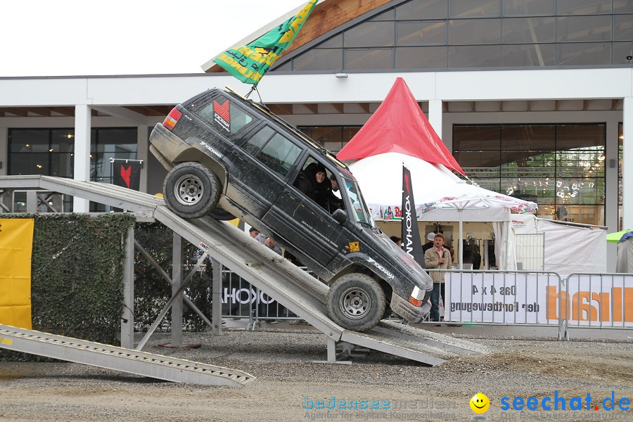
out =
<svg viewBox="0 0 633 422"><path fill-rule="evenodd" d="M310 162L321 162L312 155L302 160L300 168ZM331 172L328 168L328 172ZM293 179L294 180L294 179ZM343 250L351 232L333 219L330 212L317 205L299 188L288 183L276 198L269 212L264 215L267 226L275 226L283 241L293 245L299 259L326 267Z"/></svg>

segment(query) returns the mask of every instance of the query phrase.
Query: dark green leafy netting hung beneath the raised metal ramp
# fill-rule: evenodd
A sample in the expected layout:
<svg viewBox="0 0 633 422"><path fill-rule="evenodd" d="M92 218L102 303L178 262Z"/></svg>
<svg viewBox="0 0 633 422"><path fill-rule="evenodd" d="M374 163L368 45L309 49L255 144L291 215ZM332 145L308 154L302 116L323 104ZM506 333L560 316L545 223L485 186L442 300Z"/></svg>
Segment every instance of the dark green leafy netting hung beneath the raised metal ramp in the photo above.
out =
<svg viewBox="0 0 633 422"><path fill-rule="evenodd" d="M120 344L123 307L124 241L127 229L167 274L172 272L173 234L160 223L136 224L133 215L108 213L15 215L33 218L31 303L33 329L99 343ZM198 248L184 242L184 276L195 264ZM186 294L210 316L211 266L196 272ZM136 251L134 263L135 329L146 331L171 297L171 286ZM203 321L184 305L184 326L200 330ZM160 327L170 329L170 313ZM21 356L21 357L18 357ZM0 359L23 359L0 350Z"/></svg>

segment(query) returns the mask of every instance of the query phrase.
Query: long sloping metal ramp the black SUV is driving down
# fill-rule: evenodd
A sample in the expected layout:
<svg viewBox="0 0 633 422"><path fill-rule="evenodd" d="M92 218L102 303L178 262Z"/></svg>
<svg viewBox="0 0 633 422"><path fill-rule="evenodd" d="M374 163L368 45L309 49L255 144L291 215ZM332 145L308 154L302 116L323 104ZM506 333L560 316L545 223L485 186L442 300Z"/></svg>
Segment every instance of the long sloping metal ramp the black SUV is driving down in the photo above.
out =
<svg viewBox="0 0 633 422"><path fill-rule="evenodd" d="M41 188L153 217L182 238L207 252L231 271L264 290L281 305L326 335L328 362L335 362L336 344L378 350L435 365L460 354L482 354L486 347L448 335L381 321L371 331L358 333L335 324L327 314L325 286L228 222L210 217L185 220L174 215L161 198L119 186L49 176L4 176L0 188ZM214 321L214 323L217 321Z"/></svg>

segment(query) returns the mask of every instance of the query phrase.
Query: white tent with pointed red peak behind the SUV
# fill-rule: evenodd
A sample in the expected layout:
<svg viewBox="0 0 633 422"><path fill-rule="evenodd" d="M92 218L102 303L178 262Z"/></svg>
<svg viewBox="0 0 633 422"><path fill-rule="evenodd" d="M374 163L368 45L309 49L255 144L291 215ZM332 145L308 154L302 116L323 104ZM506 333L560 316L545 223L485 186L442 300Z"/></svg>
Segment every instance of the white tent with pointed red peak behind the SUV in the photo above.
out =
<svg viewBox="0 0 633 422"><path fill-rule="evenodd" d="M350 171L358 179L374 219L400 217L404 164L411 171L418 221L460 222L460 239L462 222L494 222L495 245L505 246L504 250L495 248L497 267L516 269L510 210L506 205L516 201L514 205L520 207L522 201L504 197L503 205L499 198L494 199L498 193L468 185L448 170L465 174L401 77L336 157L357 160L350 165ZM459 254L463 254L461 248Z"/></svg>

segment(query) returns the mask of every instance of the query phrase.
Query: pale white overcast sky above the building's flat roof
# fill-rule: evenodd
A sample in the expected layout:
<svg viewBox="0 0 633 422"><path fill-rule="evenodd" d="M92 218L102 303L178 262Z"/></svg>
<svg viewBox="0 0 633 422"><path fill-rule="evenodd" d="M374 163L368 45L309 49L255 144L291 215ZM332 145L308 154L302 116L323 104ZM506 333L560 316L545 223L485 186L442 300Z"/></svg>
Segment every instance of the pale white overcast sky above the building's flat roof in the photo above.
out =
<svg viewBox="0 0 633 422"><path fill-rule="evenodd" d="M200 73L307 0L2 2L0 77Z"/></svg>

